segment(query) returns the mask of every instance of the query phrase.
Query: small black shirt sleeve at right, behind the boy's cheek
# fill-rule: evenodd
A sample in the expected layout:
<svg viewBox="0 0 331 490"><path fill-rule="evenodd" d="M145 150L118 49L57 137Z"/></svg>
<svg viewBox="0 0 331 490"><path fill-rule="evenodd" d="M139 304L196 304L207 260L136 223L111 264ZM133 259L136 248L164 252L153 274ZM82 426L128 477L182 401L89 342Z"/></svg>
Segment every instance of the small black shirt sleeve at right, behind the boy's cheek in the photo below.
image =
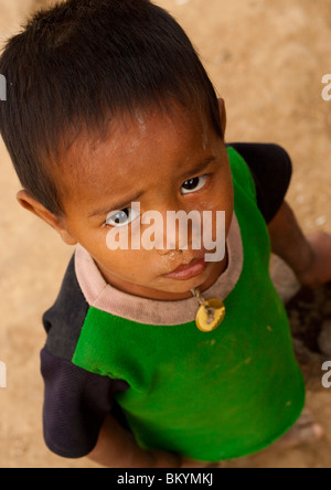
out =
<svg viewBox="0 0 331 490"><path fill-rule="evenodd" d="M266 143L231 143L246 161L255 181L257 205L266 223L279 211L292 174L292 163L284 148Z"/></svg>

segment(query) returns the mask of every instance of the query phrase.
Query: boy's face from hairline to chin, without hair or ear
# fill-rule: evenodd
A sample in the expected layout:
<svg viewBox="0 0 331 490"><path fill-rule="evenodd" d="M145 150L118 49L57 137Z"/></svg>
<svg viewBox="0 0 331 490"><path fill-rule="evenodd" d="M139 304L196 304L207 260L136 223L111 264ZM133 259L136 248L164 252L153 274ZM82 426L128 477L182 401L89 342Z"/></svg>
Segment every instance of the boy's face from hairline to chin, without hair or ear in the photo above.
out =
<svg viewBox="0 0 331 490"><path fill-rule="evenodd" d="M77 139L61 163L55 175L65 190L61 226L89 252L110 285L141 297L175 300L190 297L194 287L206 289L225 269L226 257L203 260L211 253L203 241L200 251L192 248L192 227L188 249L180 249L178 233L167 236L167 211L212 211L214 239L216 211L225 211L226 234L233 215L225 145L195 110L173 105L170 113L147 110L125 124L116 120L109 138L94 146L88 138ZM168 239L171 247L108 248L110 230L121 228L130 237L150 227L152 222L140 224L132 202L140 204L141 214L157 211L164 217L163 246Z"/></svg>

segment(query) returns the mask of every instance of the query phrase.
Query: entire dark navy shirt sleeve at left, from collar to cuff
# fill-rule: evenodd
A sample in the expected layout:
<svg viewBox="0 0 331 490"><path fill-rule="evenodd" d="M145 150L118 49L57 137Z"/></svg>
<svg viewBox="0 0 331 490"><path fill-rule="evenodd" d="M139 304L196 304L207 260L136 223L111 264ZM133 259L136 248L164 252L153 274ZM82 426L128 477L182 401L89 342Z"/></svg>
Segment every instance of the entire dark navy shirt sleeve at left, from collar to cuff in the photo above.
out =
<svg viewBox="0 0 331 490"><path fill-rule="evenodd" d="M89 373L72 362L88 308L73 256L58 297L43 316L47 341L41 352L44 439L51 451L64 458L87 456L109 413L127 428L115 396L128 384Z"/></svg>

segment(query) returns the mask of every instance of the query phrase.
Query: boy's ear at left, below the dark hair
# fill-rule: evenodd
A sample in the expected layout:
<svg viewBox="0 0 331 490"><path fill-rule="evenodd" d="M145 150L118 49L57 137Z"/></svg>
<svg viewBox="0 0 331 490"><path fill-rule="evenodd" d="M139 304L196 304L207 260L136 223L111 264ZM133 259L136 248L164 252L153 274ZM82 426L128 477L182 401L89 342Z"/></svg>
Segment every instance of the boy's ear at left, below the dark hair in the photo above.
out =
<svg viewBox="0 0 331 490"><path fill-rule="evenodd" d="M22 207L35 214L38 217L41 217L44 222L52 226L52 228L54 228L60 234L64 243L66 243L67 245L77 244L75 237L73 237L71 233L66 230L66 227L64 227L58 217L46 210L46 207L44 207L39 201L33 199L26 191L22 190L18 192L17 200Z"/></svg>

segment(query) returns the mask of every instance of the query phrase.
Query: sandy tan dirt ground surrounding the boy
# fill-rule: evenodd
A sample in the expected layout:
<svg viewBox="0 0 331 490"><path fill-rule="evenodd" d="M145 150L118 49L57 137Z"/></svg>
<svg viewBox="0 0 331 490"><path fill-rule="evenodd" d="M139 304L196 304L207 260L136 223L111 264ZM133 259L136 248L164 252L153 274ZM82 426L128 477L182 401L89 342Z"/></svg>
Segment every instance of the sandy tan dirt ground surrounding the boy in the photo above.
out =
<svg viewBox="0 0 331 490"><path fill-rule="evenodd" d="M1 42L45 3L0 0ZM295 167L288 201L303 230L331 232L331 102L321 97L322 76L331 73L330 1L159 3L188 31L225 98L227 140L281 143ZM87 459L68 461L50 454L42 438L41 316L58 292L73 249L19 206L19 183L2 143L0 168L0 361L8 369L8 387L0 388L0 467L94 468ZM321 384L328 355L318 352L316 342L322 320L331 317L330 290L301 292L289 315L307 380L307 404L324 436L295 449L271 447L228 462L231 468L331 468L331 388Z"/></svg>

